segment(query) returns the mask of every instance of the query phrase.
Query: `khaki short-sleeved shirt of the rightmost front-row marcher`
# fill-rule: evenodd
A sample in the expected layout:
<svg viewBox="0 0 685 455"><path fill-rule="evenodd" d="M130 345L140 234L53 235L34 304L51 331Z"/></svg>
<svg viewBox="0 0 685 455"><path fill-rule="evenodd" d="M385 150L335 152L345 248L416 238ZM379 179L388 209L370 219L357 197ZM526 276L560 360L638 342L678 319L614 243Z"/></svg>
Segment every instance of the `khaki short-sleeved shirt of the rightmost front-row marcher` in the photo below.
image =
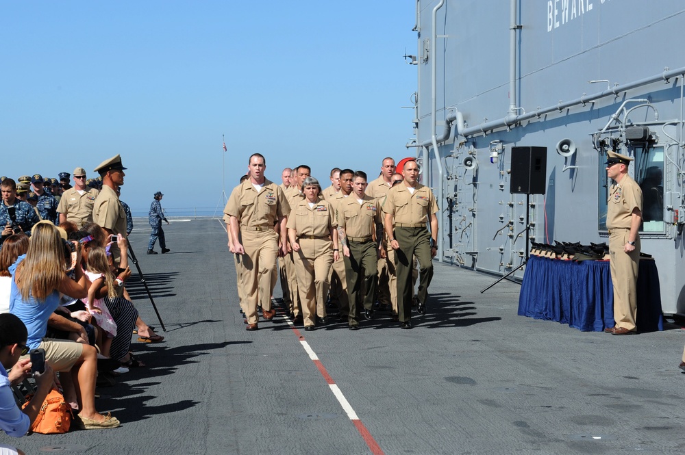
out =
<svg viewBox="0 0 685 455"><path fill-rule="evenodd" d="M388 191L383 211L395 217L395 224L428 223L430 216L437 213L438 203L429 187L416 183L411 194L406 184L399 183Z"/></svg>

